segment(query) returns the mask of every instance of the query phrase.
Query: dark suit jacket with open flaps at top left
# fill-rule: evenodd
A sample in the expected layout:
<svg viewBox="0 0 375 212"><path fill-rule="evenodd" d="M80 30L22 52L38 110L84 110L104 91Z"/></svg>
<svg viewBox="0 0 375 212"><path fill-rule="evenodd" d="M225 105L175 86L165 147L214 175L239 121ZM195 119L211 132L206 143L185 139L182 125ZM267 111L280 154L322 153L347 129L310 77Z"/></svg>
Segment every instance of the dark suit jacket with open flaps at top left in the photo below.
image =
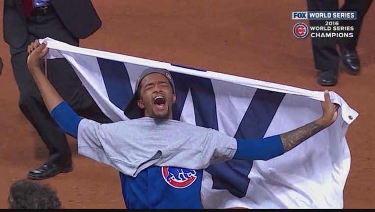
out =
<svg viewBox="0 0 375 212"><path fill-rule="evenodd" d="M79 39L84 39L97 31L102 22L91 0L50 0L58 18L68 31ZM3 13L4 41L14 48L25 44L27 20L22 0L4 0Z"/></svg>

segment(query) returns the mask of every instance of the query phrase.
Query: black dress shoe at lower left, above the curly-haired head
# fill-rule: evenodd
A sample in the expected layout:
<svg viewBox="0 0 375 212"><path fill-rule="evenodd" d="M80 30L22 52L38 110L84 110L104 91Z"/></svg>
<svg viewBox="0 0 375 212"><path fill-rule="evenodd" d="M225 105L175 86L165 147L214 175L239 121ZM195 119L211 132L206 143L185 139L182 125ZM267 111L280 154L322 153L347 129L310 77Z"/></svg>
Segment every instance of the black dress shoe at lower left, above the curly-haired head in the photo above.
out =
<svg viewBox="0 0 375 212"><path fill-rule="evenodd" d="M52 165L44 164L28 172L27 178L30 180L43 180L52 178L60 173L67 173L73 171L73 166L60 166L56 163Z"/></svg>

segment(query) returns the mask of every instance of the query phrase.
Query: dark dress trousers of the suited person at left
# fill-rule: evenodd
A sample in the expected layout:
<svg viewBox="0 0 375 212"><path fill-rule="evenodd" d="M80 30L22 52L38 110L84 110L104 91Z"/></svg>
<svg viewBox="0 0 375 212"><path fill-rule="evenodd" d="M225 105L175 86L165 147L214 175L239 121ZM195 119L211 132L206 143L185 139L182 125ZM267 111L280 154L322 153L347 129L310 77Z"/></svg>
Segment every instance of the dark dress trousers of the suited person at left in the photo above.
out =
<svg viewBox="0 0 375 212"><path fill-rule="evenodd" d="M65 133L57 126L44 105L41 94L27 68L27 45L35 39L53 39L78 46L73 37L52 11L45 15L31 15L27 19L27 42L21 48L10 47L13 74L19 91L19 107L41 136L50 151L46 163L66 163L71 159ZM44 70L44 63L41 61ZM102 123L111 120L100 110L80 79L65 59L48 59L47 76L61 97L80 115Z"/></svg>

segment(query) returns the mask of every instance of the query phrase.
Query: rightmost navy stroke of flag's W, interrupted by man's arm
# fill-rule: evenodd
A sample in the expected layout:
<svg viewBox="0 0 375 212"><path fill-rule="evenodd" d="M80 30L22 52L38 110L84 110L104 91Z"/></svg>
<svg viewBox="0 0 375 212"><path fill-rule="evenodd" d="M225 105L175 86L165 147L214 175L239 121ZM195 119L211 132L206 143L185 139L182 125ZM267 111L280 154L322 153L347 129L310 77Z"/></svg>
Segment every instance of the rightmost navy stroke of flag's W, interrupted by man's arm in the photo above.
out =
<svg viewBox="0 0 375 212"><path fill-rule="evenodd" d="M284 93L257 89L235 137L263 138L284 96ZM241 198L246 195L250 182L247 176L252 165L253 161L232 159L213 164L206 171L212 175L214 189L227 189L231 194Z"/></svg>

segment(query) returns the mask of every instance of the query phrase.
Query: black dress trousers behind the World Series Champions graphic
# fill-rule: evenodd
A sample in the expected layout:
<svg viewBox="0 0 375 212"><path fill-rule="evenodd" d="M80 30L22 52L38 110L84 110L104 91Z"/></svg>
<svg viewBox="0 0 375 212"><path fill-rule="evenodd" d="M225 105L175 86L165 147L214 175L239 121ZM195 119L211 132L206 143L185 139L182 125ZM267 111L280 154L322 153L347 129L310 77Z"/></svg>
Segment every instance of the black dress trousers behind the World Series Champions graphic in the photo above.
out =
<svg viewBox="0 0 375 212"><path fill-rule="evenodd" d="M340 20L340 26L353 26L352 38L311 38L315 68L321 71L337 71L340 56L336 45L340 44L354 50L358 43L363 17L373 0L346 0L339 9L338 0L307 0L308 11L356 11L356 20ZM310 20L310 26L324 26L326 20Z"/></svg>

